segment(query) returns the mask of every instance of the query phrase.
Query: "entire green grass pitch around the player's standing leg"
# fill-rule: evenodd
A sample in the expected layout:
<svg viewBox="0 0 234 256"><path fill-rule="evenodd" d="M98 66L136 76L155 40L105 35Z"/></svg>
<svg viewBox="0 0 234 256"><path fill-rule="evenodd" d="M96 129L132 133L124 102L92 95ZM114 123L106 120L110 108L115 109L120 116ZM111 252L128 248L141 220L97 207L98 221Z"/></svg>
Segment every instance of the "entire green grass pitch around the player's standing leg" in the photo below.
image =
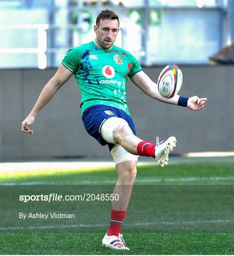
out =
<svg viewBox="0 0 234 256"><path fill-rule="evenodd" d="M112 193L114 168L1 177L1 254L234 254L233 162L139 166L122 232L130 251L102 247L111 202L18 201L18 194ZM48 208L48 209L47 209ZM77 211L78 219L23 221L19 211Z"/></svg>

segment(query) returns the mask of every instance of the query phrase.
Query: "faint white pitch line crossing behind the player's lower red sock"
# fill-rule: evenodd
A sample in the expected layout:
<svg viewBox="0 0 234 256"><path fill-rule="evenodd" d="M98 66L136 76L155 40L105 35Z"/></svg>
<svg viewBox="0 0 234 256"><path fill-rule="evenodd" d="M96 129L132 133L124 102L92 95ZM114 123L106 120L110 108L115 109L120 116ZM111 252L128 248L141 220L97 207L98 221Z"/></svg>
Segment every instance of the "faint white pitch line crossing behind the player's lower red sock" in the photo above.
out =
<svg viewBox="0 0 234 256"><path fill-rule="evenodd" d="M156 225L197 225L204 223L232 223L233 219L210 219L210 220L189 220L189 221L162 221L162 222L137 222L134 224L125 224L124 226L156 226ZM31 227L6 227L0 230L25 230L25 229L70 229L70 228L95 228L107 227L108 224L76 224L76 225L58 225L58 226L31 226Z"/></svg>

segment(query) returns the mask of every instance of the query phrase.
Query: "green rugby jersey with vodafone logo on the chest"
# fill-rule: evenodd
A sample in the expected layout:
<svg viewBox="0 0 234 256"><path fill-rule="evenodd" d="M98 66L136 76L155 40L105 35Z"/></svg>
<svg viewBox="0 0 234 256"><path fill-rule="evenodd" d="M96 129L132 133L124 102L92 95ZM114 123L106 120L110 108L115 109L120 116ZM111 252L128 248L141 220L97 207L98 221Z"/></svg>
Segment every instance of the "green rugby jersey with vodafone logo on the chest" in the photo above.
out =
<svg viewBox="0 0 234 256"><path fill-rule="evenodd" d="M81 115L90 106L108 105L130 115L126 83L142 68L129 52L113 46L102 49L92 41L70 49L62 64L71 71L81 93Z"/></svg>

